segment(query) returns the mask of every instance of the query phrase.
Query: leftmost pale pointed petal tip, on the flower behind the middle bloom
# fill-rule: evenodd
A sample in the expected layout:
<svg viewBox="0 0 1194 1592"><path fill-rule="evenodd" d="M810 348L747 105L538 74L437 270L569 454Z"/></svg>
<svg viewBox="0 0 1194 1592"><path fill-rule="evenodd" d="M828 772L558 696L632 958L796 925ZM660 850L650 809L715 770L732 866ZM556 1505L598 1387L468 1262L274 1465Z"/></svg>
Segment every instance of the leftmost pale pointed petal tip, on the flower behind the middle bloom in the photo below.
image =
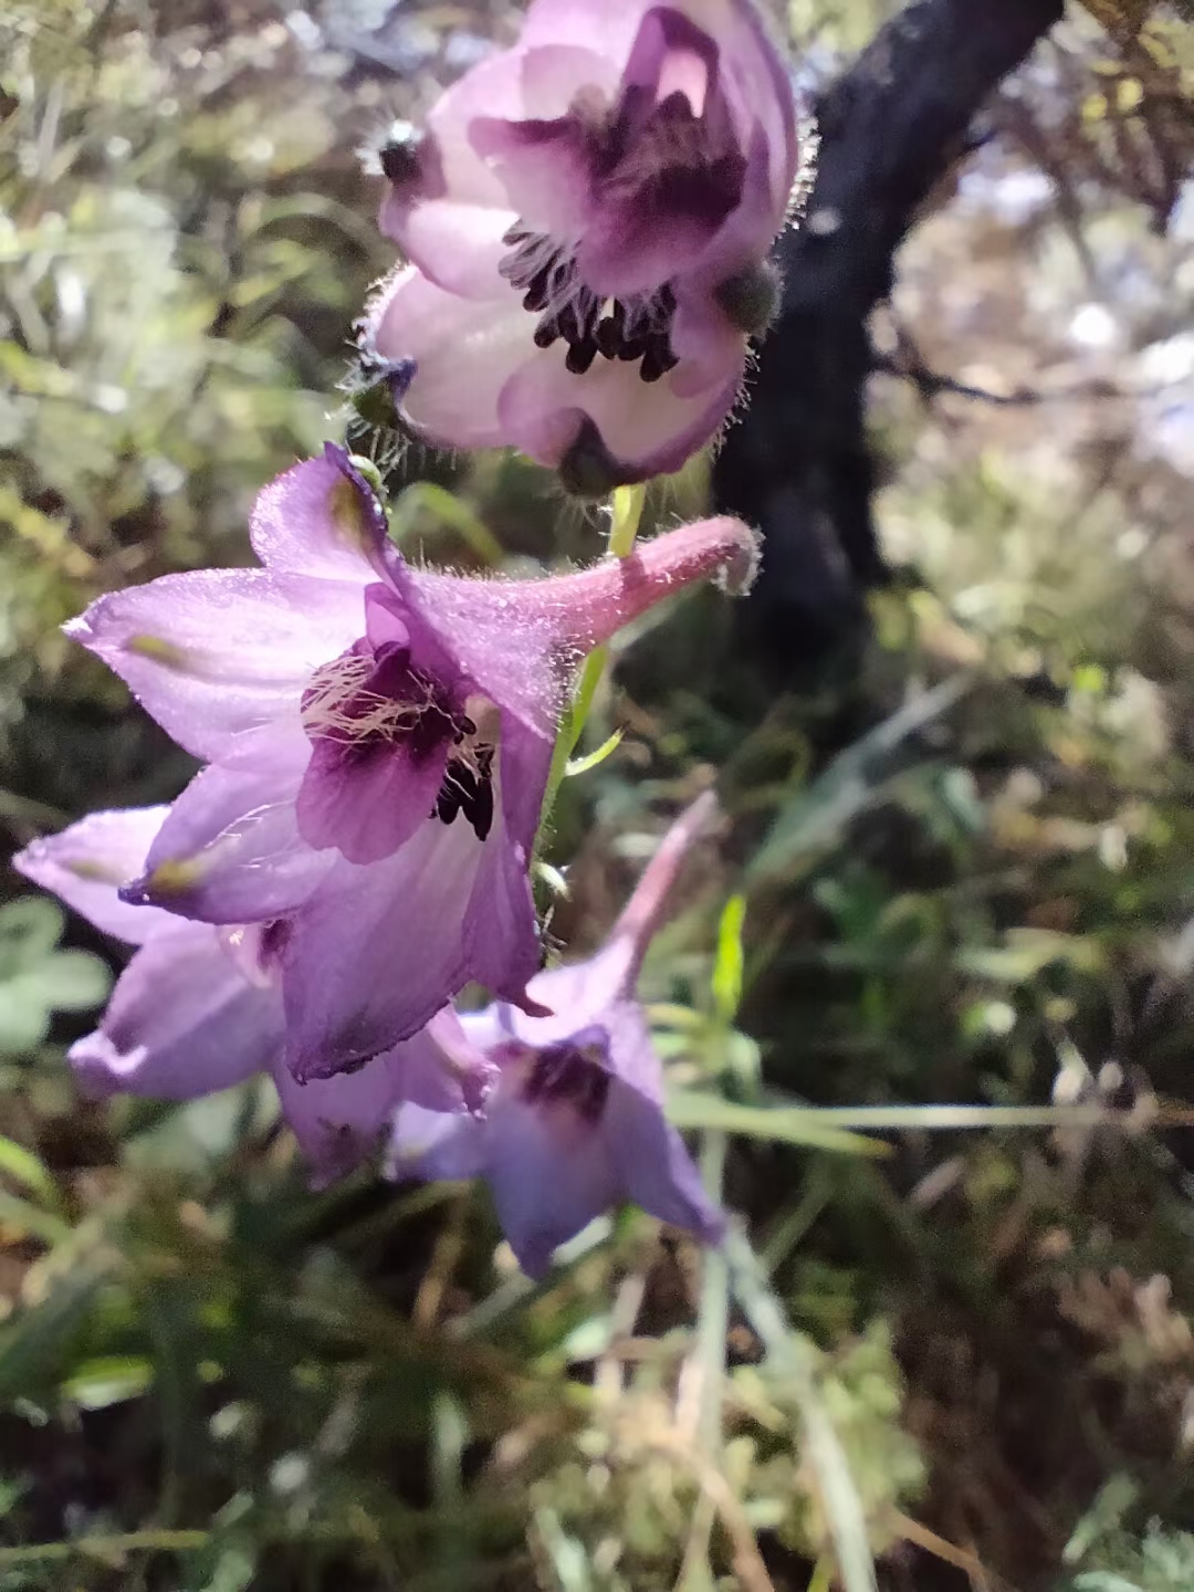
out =
<svg viewBox="0 0 1194 1592"><path fill-rule="evenodd" d="M92 812L60 834L32 841L13 868L94 923L105 935L142 946L175 919L151 906L129 906L116 893L139 879L169 807Z"/></svg>

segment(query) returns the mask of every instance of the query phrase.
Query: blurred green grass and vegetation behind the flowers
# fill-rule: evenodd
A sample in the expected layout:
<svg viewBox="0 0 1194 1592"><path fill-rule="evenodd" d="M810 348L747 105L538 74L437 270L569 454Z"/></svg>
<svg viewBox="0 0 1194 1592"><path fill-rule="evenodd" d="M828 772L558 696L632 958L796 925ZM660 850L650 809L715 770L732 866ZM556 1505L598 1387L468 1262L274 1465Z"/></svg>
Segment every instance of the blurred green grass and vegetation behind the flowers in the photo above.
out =
<svg viewBox="0 0 1194 1592"><path fill-rule="evenodd" d="M772 6L809 86L895 10ZM255 492L347 425L390 264L360 146L516 25L6 0L5 853L188 777L57 626L248 559ZM3 872L3 1592L828 1592L834 1514L890 1592L1194 1586L1183 8L1075 6L985 121L876 317L866 645L782 694L686 602L621 646L591 736L624 739L557 818L579 952L721 775L645 993L750 1242L624 1213L532 1286L476 1191L310 1194L264 1091L88 1103L64 1048L118 950ZM350 435L417 556L600 549L525 465Z"/></svg>

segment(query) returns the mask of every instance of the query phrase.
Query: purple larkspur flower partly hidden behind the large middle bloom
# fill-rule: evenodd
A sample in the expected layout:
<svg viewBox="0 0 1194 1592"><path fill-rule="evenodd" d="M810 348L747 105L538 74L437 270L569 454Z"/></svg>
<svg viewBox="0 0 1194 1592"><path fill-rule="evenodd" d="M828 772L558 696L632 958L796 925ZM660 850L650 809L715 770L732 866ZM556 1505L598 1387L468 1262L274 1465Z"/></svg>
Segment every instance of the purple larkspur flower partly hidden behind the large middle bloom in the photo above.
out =
<svg viewBox="0 0 1194 1592"><path fill-rule="evenodd" d="M373 1151L400 1102L447 1113L479 1102L489 1068L460 1043L451 1011L353 1073L299 1084L282 1060L282 992L267 931L189 923L119 896L167 814L97 812L13 858L18 872L96 928L139 947L99 1028L70 1048L89 1094L193 1100L267 1071L320 1186Z"/></svg>

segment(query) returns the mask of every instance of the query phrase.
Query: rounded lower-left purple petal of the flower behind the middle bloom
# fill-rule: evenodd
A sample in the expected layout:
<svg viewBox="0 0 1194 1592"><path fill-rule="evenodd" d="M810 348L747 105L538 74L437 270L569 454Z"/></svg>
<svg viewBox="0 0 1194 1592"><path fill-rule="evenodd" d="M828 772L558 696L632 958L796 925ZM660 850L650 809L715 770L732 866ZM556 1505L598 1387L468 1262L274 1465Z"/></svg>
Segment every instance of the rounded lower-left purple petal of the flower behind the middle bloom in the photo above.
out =
<svg viewBox="0 0 1194 1592"><path fill-rule="evenodd" d="M247 982L215 928L174 922L137 952L99 1032L68 1055L96 1094L193 1100L269 1067L280 1048L277 992Z"/></svg>

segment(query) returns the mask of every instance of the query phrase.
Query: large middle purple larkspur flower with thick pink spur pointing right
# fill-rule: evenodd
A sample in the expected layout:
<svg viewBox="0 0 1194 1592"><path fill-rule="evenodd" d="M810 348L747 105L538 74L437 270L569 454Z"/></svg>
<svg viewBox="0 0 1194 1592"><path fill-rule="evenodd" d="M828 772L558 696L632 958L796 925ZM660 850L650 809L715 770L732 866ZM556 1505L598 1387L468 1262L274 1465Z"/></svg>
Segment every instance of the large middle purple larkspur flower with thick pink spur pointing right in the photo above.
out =
<svg viewBox="0 0 1194 1592"><path fill-rule="evenodd" d="M409 1038L466 982L527 1001L529 864L579 657L688 581L748 572L737 521L543 579L411 568L342 449L259 495L259 568L100 597L67 632L209 766L126 899L269 923L306 1083Z"/></svg>

